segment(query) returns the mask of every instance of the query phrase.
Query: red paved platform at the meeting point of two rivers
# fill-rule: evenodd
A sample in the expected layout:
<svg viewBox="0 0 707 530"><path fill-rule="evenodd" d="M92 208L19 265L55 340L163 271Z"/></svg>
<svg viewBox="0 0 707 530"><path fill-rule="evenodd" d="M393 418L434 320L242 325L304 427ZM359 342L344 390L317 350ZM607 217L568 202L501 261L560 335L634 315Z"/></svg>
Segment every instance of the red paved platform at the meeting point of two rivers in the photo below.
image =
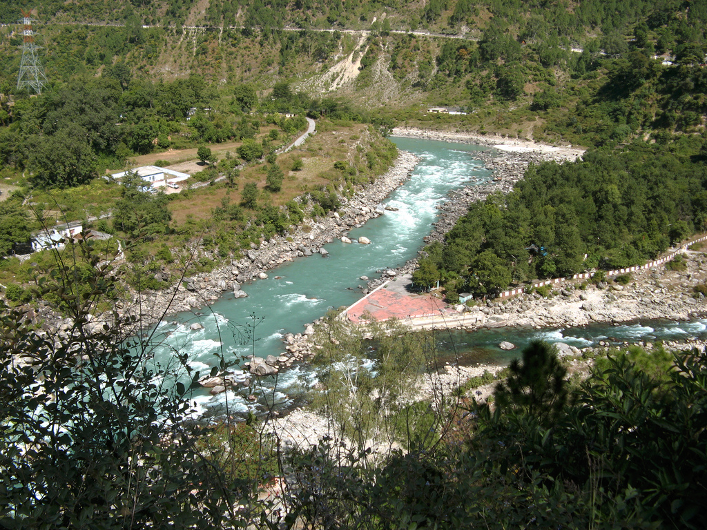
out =
<svg viewBox="0 0 707 530"><path fill-rule="evenodd" d="M431 317L450 312L455 310L432 295L410 295L379 289L349 307L346 316L351 322L358 323L365 313L382 322L390 318Z"/></svg>

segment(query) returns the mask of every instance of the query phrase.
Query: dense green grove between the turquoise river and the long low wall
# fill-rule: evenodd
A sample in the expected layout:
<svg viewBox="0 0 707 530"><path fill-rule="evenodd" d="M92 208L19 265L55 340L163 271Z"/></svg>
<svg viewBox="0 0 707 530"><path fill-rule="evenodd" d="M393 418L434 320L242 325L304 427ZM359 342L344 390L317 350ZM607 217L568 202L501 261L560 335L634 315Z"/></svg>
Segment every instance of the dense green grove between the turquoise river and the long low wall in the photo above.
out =
<svg viewBox="0 0 707 530"><path fill-rule="evenodd" d="M512 193L472 204L448 232L439 279L443 269L468 274L474 290L473 260L483 252L501 259L516 280L654 259L705 225L707 167L699 148L691 142L669 154L658 144L633 143L620 153L589 151L571 164L531 165Z"/></svg>

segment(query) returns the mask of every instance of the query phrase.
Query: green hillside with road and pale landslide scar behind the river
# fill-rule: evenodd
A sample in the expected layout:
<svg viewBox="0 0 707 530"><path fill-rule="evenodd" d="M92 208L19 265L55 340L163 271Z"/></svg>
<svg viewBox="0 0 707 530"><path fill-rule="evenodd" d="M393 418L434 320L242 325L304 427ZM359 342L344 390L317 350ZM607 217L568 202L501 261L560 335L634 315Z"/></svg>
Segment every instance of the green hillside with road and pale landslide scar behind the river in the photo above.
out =
<svg viewBox="0 0 707 530"><path fill-rule="evenodd" d="M52 2L37 11L37 29L53 86L198 74L263 93L288 81L312 96L334 88L354 105L384 105L397 119L448 105L474 112L462 125L475 130L594 145L701 125L702 75L691 69L705 62L706 11L680 1ZM5 94L16 83L19 15L0 4ZM327 75L351 64L346 83Z"/></svg>

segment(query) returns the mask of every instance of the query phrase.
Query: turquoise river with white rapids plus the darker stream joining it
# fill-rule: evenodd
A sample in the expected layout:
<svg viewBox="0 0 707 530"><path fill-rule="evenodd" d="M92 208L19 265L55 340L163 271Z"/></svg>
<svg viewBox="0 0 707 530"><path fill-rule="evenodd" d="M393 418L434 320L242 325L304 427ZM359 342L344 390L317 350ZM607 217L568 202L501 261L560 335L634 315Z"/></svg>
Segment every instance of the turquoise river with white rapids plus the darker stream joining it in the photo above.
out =
<svg viewBox="0 0 707 530"><path fill-rule="evenodd" d="M361 276L375 277L376 271L400 266L413 258L423 247L423 237L431 231L437 218L437 207L448 192L468 184L481 184L490 177L483 163L474 157L486 149L462 143L420 139L392 139L397 146L410 151L421 159L410 179L390 194L386 206L398 208L384 216L368 221L361 228L351 230L352 239L366 236L370 245L351 245L335 241L326 245L328 257L314 255L296 259L269 271L267 280L243 285L247 298L235 299L233 293L223 295L204 314L197 314L204 329L192 331L189 324L194 314L178 314L170 322L158 325L156 334L156 360L169 365L174 351L189 353L192 368L209 372L221 360L238 364L245 356L255 353L259 357L279 355L283 351L282 337L286 333L303 331L303 325L322 317L328 310L348 306L361 298ZM685 324L636 324L624 326L595 326L591 329L569 331L499 330L477 331L468 334L455 331L440 333L440 350L452 361L463 363L507 363L515 353L501 352L497 348L506 340L522 346L532 338L563 340L574 346L588 346L594 341L611 337L617 340L655 340L655 338L684 338L688 335L704 336L707 322ZM678 327L679 331L672 330ZM684 328L684 329L683 329ZM658 331L656 331L658 330ZM671 331L672 330L672 331ZM667 336L662 336L665 332ZM660 336L656 337L658 333ZM682 334L682 335L681 335ZM452 354L452 352L455 352ZM245 379L247 375L235 368ZM293 404L300 377L308 377L306 367L295 367L278 376L260 382L271 389L276 385L274 401L279 407ZM263 394L254 391L259 401L245 399L248 392L227 392L211 397L197 392L194 400L201 408L221 405L228 399L233 412L258 411L262 408Z"/></svg>

